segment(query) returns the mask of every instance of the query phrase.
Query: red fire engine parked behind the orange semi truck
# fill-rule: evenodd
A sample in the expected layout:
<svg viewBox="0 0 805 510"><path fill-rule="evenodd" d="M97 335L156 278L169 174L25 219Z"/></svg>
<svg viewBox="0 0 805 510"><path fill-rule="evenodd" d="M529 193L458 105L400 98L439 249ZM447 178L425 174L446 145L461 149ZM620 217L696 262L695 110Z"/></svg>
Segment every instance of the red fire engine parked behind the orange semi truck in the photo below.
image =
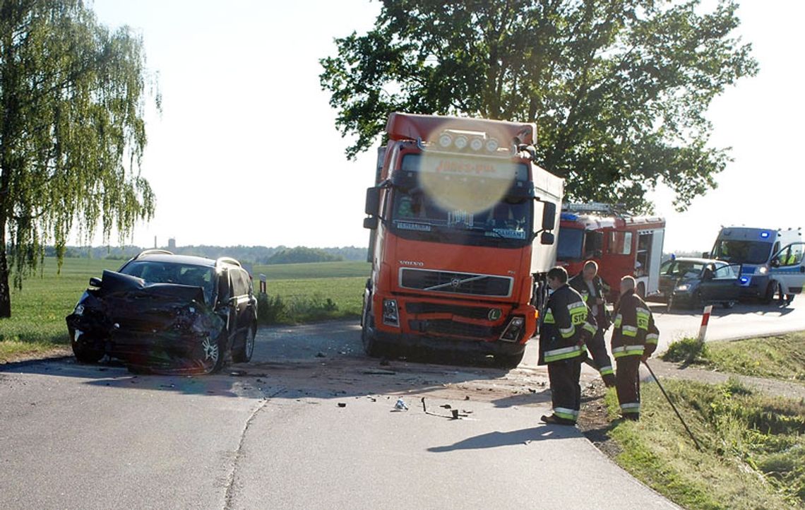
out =
<svg viewBox="0 0 805 510"><path fill-rule="evenodd" d="M634 276L645 297L658 291L665 219L633 216L614 205L565 204L559 219L557 263L570 276L595 260L598 275L610 288L609 301L620 296L621 278Z"/></svg>

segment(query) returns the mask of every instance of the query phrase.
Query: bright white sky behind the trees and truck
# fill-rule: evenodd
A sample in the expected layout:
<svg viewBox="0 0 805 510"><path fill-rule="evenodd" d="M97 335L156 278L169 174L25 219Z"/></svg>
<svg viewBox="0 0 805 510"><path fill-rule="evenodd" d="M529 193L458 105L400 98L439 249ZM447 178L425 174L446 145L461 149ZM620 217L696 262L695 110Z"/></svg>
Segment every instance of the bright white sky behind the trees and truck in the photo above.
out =
<svg viewBox="0 0 805 510"><path fill-rule="evenodd" d="M142 34L163 94L142 164L156 215L134 244L365 245L375 152L346 160L318 60L335 54L333 38L372 27L378 2L95 0L94 10ZM708 250L720 225L805 226L805 2L744 0L739 16L761 71L710 111L712 143L733 147L734 162L685 213L667 191L651 195L667 218L665 251Z"/></svg>

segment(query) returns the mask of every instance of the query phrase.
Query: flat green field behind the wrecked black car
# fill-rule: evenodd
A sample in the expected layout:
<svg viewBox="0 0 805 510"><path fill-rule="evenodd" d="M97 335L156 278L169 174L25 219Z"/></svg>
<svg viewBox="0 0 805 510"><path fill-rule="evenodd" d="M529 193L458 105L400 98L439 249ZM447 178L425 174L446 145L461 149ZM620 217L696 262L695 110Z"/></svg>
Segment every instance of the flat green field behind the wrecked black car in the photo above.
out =
<svg viewBox="0 0 805 510"><path fill-rule="evenodd" d="M56 259L45 259L41 276L31 276L11 295L11 318L0 320L0 361L68 343L64 317L72 312L91 276L117 270L120 260L65 259L56 274ZM369 263L331 262L254 266L254 287L265 274L269 296L280 296L283 322L360 317ZM328 301L330 300L330 301Z"/></svg>

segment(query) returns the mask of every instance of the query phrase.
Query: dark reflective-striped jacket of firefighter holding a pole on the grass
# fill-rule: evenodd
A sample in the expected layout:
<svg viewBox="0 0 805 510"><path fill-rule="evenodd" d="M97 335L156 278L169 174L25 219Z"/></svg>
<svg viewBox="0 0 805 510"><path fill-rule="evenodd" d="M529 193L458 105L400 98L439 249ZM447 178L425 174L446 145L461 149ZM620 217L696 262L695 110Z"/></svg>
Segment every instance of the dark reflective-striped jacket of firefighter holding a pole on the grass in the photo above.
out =
<svg viewBox="0 0 805 510"><path fill-rule="evenodd" d="M612 355L615 359L651 355L657 349L659 330L654 325L654 316L634 290L621 296L613 325Z"/></svg>

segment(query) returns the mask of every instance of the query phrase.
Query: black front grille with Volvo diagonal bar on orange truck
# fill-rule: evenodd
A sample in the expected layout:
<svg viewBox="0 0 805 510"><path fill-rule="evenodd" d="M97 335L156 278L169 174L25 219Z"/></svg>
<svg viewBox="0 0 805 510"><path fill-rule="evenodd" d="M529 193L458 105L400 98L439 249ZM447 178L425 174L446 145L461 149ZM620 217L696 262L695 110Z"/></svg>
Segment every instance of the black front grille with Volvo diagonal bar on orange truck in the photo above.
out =
<svg viewBox="0 0 805 510"><path fill-rule="evenodd" d="M430 292L508 297L511 296L513 283L513 278L505 276L427 271L407 267L400 269L400 287Z"/></svg>

